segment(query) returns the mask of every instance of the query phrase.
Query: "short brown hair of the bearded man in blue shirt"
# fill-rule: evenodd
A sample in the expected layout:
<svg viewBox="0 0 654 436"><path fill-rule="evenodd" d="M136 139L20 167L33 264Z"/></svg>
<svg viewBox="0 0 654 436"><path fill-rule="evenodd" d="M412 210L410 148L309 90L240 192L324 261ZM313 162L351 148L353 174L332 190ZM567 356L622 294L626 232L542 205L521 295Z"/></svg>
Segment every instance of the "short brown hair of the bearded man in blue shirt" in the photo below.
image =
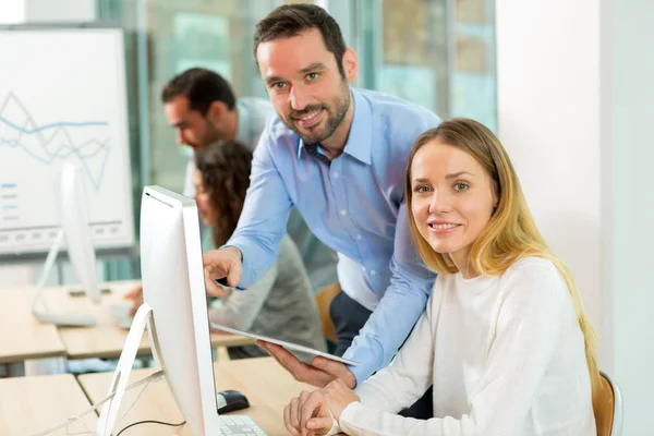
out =
<svg viewBox="0 0 654 436"><path fill-rule="evenodd" d="M259 21L254 32L254 59L259 44L279 38L291 38L304 31L317 28L323 35L327 50L336 57L341 76L346 78L343 55L348 47L336 20L315 4L284 4Z"/></svg>

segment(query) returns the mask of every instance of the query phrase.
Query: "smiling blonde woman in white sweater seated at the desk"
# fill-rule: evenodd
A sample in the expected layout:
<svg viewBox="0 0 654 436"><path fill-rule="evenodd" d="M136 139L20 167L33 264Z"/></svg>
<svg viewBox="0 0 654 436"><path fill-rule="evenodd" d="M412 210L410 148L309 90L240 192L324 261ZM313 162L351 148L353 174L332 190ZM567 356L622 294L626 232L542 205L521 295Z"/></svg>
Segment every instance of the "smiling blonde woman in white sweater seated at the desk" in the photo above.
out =
<svg viewBox="0 0 654 436"><path fill-rule="evenodd" d="M335 380L293 399L289 432L595 436L595 332L499 141L465 119L425 132L405 196L411 234L438 272L426 311L356 393ZM432 384L435 417L397 415Z"/></svg>

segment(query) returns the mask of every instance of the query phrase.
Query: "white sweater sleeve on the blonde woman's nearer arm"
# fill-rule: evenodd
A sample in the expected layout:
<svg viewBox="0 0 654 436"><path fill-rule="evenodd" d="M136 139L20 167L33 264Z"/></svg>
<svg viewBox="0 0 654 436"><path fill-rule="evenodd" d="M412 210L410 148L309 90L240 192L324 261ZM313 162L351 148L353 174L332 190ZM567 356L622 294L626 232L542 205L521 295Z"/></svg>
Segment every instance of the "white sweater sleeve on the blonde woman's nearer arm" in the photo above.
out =
<svg viewBox="0 0 654 436"><path fill-rule="evenodd" d="M509 286L511 289L500 303L486 371L471 392L470 413L460 419L414 420L378 410L375 405L379 400L366 395L361 402L351 403L343 410L340 427L348 434L362 436L518 434L555 352L562 313L569 313L562 311L562 303L566 298L567 304L572 302L567 289L561 289L565 287L557 280L556 274L546 267L531 267L529 275L511 278ZM464 341L465 338L452 340ZM427 343L423 346L428 347ZM402 359L408 362L424 358L402 353ZM392 375L395 371L392 367L385 368L370 382L377 385L382 379L378 376L388 378L385 373ZM365 387L367 383L362 389L368 389Z"/></svg>

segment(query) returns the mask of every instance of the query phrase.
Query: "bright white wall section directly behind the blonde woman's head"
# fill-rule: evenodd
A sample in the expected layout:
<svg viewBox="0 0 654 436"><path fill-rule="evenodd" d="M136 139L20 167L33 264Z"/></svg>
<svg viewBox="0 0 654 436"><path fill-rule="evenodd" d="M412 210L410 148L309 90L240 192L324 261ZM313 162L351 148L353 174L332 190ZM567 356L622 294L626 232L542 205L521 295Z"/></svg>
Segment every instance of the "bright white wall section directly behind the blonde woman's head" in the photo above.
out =
<svg viewBox="0 0 654 436"><path fill-rule="evenodd" d="M498 133L600 324L600 3L497 0Z"/></svg>

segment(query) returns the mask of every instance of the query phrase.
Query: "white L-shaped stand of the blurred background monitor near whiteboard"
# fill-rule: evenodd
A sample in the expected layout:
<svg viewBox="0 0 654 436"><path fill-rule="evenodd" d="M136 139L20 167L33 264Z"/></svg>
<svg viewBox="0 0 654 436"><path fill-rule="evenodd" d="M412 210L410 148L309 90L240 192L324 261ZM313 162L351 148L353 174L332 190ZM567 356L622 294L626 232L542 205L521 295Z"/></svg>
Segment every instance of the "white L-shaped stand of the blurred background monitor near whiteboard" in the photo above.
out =
<svg viewBox="0 0 654 436"><path fill-rule="evenodd" d="M48 281L48 278L52 272L52 267L55 266L55 261L57 259L59 250L61 250L61 245L63 244L64 237L64 231L59 230L57 233L57 239L48 252L44 270L32 293L32 313L38 320L43 323L52 323L59 327L93 327L96 325L95 316L76 312L53 313L48 307L45 299L41 299L46 281ZM43 306L43 310L39 310L39 302L41 303L40 305Z"/></svg>

